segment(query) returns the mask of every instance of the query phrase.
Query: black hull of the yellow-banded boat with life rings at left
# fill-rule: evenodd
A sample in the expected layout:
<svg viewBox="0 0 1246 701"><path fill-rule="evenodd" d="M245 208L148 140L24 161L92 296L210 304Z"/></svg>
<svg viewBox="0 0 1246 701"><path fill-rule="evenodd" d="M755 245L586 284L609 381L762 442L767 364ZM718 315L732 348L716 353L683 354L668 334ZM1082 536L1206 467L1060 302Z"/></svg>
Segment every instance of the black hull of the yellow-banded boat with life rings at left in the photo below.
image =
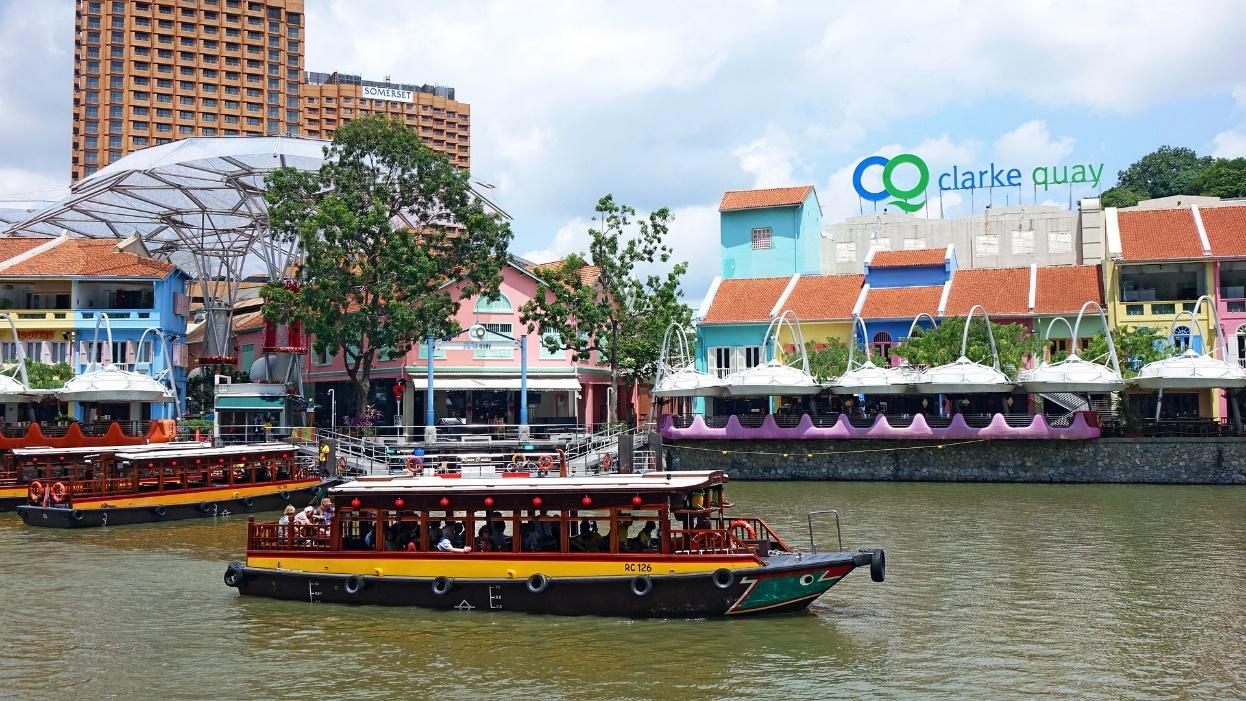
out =
<svg viewBox="0 0 1246 701"><path fill-rule="evenodd" d="M280 492L274 491L240 498L214 498L213 494L204 494L201 501L184 504L87 509L22 504L17 507L17 514L21 515L21 519L27 525L42 528L97 528L101 525L133 525L138 523L159 523L191 518L213 518L242 513L270 512L280 509L285 504L303 506L321 487L330 484L330 482L321 482L307 487L287 488Z"/></svg>

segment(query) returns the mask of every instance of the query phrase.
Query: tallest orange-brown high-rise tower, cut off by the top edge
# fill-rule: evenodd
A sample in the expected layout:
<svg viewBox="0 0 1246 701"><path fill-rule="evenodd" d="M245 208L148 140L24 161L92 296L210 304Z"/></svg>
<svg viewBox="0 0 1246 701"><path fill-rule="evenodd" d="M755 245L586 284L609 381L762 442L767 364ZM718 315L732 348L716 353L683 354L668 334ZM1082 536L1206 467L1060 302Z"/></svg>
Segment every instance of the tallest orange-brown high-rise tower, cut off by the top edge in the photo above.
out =
<svg viewBox="0 0 1246 701"><path fill-rule="evenodd" d="M191 136L299 133L303 0L78 0L72 179Z"/></svg>

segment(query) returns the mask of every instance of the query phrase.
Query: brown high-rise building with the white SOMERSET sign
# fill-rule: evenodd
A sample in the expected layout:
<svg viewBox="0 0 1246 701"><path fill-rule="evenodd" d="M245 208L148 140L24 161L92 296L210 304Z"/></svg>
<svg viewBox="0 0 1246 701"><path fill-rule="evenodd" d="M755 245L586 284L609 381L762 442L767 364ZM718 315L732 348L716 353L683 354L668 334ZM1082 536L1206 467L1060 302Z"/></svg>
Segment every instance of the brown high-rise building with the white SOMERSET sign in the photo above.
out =
<svg viewBox="0 0 1246 701"><path fill-rule="evenodd" d="M303 82L303 133L331 139L356 117L389 115L419 129L420 139L460 168L471 166L471 106L455 88L366 81L346 73L309 72Z"/></svg>

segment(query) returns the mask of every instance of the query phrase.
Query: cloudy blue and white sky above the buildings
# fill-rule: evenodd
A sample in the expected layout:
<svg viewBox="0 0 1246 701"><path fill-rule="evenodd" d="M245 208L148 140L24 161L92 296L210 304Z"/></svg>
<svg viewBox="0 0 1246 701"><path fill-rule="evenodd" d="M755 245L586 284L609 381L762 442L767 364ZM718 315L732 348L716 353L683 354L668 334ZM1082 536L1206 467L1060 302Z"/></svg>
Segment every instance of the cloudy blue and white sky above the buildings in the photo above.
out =
<svg viewBox="0 0 1246 701"><path fill-rule="evenodd" d="M1246 156L1237 0L307 0L307 68L447 85L471 105L472 176L513 217L515 253L586 250L607 193L667 207L690 300L718 271L724 191L812 184L835 222L872 210L851 181L873 154L917 153L936 177L1103 163L1098 189L1160 144ZM67 184L72 24L70 0L0 0L0 200ZM943 194L944 215L971 212L962 195ZM936 197L918 215L939 215Z"/></svg>

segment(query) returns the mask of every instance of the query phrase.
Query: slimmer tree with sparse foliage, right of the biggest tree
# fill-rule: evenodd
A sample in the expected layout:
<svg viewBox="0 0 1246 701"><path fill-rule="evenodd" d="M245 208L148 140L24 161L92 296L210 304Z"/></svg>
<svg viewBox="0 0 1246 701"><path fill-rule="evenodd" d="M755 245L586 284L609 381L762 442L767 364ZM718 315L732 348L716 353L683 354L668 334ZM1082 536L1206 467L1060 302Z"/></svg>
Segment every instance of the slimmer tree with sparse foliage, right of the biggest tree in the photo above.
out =
<svg viewBox="0 0 1246 701"><path fill-rule="evenodd" d="M540 268L543 281L521 313L528 331L541 329L549 350L567 349L573 360L597 352L609 366L614 401L608 402L607 418L613 422L619 380L650 380L663 332L670 322L688 326L692 310L679 301L688 264L665 268L670 210L634 219L635 209L607 194L597 213L602 228L588 229L588 254ZM654 265L660 269L645 274Z"/></svg>

